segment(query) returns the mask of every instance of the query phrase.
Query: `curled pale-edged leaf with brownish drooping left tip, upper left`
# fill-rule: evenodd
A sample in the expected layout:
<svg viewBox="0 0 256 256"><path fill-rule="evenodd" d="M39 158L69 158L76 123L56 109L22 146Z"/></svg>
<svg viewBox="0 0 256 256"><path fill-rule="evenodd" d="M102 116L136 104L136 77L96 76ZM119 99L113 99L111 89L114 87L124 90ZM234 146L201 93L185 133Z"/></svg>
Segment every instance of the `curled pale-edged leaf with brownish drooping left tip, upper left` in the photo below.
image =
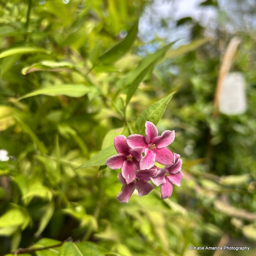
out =
<svg viewBox="0 0 256 256"><path fill-rule="evenodd" d="M23 75L27 75L28 73L41 71L41 70L48 70L52 72L59 72L59 71L66 71L69 69L74 68L74 65L69 61L53 61L53 60L43 60L39 63L35 63L31 66L23 68L21 73Z"/></svg>

